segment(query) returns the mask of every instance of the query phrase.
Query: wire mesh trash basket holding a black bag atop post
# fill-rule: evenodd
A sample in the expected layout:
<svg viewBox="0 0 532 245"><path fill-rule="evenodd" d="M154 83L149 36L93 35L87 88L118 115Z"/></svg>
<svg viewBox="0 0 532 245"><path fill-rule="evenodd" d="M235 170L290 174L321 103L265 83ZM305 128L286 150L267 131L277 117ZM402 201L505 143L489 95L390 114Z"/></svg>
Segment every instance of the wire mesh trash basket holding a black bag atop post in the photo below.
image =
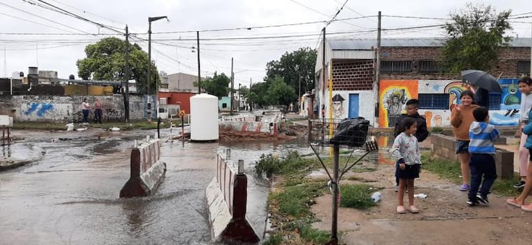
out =
<svg viewBox="0 0 532 245"><path fill-rule="evenodd" d="M377 151L373 127L363 118L311 119L309 120L309 144L342 148L361 148Z"/></svg>

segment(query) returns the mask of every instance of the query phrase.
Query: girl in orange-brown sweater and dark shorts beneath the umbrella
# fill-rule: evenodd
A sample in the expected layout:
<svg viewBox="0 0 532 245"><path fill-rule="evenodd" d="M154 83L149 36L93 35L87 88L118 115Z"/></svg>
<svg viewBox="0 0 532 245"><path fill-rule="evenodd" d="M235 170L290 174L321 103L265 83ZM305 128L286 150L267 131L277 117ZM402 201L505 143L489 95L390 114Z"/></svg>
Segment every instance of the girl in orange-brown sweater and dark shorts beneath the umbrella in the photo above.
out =
<svg viewBox="0 0 532 245"><path fill-rule="evenodd" d="M478 105L473 104L473 96L473 92L469 90L463 91L460 94L461 105L456 105L451 112L451 125L456 139L456 154L460 155L460 169L463 178L463 184L458 189L462 192L469 189L470 183L470 155L467 150L469 146L469 127L474 121L473 110L478 107Z"/></svg>

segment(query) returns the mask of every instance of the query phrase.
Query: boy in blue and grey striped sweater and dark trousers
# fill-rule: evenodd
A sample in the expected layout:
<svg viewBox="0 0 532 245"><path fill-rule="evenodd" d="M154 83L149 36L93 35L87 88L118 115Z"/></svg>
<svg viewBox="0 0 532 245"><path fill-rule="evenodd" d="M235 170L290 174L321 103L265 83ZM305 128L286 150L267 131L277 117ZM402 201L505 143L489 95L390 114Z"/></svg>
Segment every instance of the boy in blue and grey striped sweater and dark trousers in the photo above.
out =
<svg viewBox="0 0 532 245"><path fill-rule="evenodd" d="M469 129L471 183L467 195L467 205L470 206L479 205L479 201L484 204L489 203L488 193L490 193L491 185L497 178L493 142L501 135L497 128L488 124L490 121L488 108L483 106L475 108L473 117L476 121L472 122Z"/></svg>

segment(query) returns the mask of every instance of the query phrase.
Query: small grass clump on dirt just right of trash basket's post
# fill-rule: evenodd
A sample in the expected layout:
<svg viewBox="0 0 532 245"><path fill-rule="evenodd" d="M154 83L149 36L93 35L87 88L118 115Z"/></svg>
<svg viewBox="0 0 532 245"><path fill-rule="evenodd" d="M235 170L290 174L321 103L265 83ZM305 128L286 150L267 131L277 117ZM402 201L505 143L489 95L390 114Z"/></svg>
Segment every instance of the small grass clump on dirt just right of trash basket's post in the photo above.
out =
<svg viewBox="0 0 532 245"><path fill-rule="evenodd" d="M371 201L371 194L375 188L370 185L341 185L340 191L342 194L341 207L364 210L377 205Z"/></svg>

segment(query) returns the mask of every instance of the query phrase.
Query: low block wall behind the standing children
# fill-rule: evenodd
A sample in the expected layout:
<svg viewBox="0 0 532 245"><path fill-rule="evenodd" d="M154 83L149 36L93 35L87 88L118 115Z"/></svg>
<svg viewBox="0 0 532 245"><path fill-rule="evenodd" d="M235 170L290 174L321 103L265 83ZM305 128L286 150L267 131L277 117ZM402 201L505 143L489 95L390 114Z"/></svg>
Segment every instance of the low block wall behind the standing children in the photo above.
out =
<svg viewBox="0 0 532 245"><path fill-rule="evenodd" d="M460 162L454 137L440 134L431 134L432 155L436 158ZM504 140L506 142L506 140ZM496 149L495 167L499 178L513 178L513 152Z"/></svg>

